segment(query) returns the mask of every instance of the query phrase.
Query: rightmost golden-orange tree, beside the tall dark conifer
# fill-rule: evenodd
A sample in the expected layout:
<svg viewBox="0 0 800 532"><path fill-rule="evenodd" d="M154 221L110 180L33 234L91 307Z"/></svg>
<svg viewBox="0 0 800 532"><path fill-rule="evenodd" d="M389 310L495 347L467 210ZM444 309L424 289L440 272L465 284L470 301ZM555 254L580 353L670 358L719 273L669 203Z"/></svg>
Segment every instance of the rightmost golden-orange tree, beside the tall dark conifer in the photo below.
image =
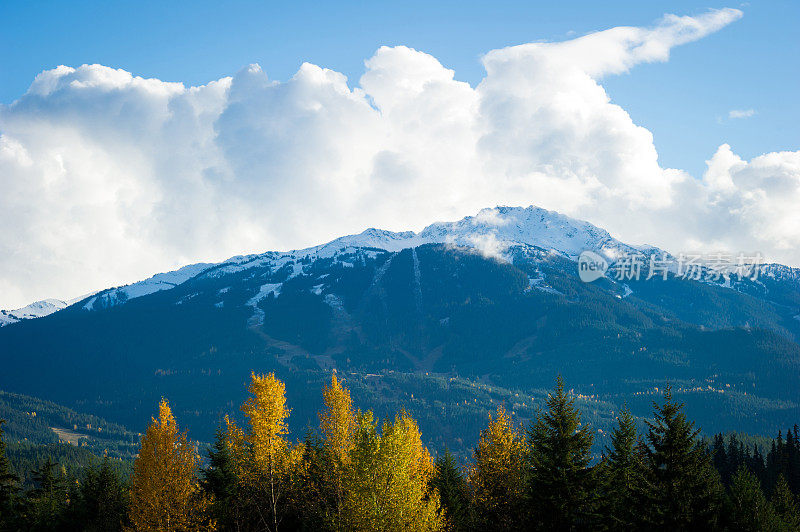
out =
<svg viewBox="0 0 800 532"><path fill-rule="evenodd" d="M503 407L489 415L472 455L475 528L518 530L524 521L525 443Z"/></svg>

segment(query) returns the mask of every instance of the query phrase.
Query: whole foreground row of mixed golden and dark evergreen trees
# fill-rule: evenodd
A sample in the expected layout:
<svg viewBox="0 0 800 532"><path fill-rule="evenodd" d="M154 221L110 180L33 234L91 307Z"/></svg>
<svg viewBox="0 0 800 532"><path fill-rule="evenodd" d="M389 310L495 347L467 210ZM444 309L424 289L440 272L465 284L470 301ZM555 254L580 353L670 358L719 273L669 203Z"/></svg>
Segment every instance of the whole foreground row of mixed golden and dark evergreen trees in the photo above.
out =
<svg viewBox="0 0 800 532"><path fill-rule="evenodd" d="M0 425L2 530L800 530L797 427L762 456L735 437L711 445L664 392L637 432L620 412L611 445L593 435L559 377L528 426L500 407L471 459L435 458L406 412L380 422L354 408L336 374L319 426L288 438L286 389L253 374L207 460L166 400L129 479L108 458L70 478L51 460L20 493Z"/></svg>

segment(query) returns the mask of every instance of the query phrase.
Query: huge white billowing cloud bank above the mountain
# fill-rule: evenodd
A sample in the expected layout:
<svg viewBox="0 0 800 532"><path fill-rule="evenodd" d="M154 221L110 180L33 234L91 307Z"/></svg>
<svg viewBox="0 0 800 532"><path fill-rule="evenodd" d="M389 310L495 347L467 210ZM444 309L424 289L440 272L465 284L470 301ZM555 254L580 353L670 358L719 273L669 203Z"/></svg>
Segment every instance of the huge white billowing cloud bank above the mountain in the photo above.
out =
<svg viewBox="0 0 800 532"><path fill-rule="evenodd" d="M702 179L662 168L600 84L740 16L494 50L474 88L403 46L380 48L356 83L308 63L287 81L251 65L199 87L101 65L42 72L0 106L0 307L496 204L800 264L797 152L743 161L722 146Z"/></svg>

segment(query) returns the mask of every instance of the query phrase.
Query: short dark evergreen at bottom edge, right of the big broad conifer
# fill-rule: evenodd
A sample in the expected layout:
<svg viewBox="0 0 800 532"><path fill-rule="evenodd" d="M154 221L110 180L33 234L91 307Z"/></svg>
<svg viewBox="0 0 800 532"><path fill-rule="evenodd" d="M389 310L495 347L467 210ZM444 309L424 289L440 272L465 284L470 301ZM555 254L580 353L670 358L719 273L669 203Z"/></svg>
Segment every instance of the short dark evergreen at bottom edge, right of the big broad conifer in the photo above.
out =
<svg viewBox="0 0 800 532"><path fill-rule="evenodd" d="M779 530L779 521L772 505L761 491L761 484L745 467L740 467L731 479L725 521L732 530Z"/></svg>

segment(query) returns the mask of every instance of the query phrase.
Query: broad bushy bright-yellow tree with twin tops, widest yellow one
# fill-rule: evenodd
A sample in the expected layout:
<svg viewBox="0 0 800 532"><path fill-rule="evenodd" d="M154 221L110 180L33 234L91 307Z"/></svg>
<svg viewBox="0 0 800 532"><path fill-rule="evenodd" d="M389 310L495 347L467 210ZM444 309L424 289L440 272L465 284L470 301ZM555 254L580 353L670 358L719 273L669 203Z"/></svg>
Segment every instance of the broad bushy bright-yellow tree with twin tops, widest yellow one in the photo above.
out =
<svg viewBox="0 0 800 532"><path fill-rule="evenodd" d="M371 412L358 417L346 491L348 530L444 530L434 465L416 421L403 412L377 433Z"/></svg>

